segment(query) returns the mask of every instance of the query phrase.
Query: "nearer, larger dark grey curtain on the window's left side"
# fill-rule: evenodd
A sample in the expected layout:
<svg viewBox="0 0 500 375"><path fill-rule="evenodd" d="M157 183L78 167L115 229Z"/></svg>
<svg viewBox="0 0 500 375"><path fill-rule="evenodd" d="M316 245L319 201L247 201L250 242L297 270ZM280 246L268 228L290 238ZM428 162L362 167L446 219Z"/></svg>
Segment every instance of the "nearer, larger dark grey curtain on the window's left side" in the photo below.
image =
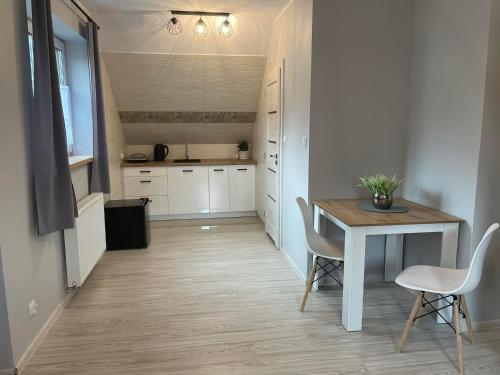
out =
<svg viewBox="0 0 500 375"><path fill-rule="evenodd" d="M68 162L50 0L32 0L33 178L38 234L72 228L76 203Z"/></svg>

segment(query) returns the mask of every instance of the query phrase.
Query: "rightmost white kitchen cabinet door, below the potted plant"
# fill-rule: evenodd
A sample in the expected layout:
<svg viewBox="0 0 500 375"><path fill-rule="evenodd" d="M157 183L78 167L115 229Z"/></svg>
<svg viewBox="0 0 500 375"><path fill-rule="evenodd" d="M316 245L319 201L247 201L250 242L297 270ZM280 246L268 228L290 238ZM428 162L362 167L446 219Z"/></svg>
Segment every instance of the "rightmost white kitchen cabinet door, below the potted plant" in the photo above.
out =
<svg viewBox="0 0 500 375"><path fill-rule="evenodd" d="M231 212L255 211L255 166L229 167L229 208Z"/></svg>

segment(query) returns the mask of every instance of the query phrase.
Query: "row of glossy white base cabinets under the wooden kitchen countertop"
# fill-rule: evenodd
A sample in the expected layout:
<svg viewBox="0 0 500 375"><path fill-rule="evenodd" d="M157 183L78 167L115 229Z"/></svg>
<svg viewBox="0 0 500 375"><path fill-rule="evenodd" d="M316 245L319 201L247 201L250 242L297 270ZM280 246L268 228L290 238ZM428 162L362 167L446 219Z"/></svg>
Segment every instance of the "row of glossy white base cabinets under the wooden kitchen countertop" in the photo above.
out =
<svg viewBox="0 0 500 375"><path fill-rule="evenodd" d="M149 198L157 219L255 212L255 165L126 167L123 186L125 199Z"/></svg>

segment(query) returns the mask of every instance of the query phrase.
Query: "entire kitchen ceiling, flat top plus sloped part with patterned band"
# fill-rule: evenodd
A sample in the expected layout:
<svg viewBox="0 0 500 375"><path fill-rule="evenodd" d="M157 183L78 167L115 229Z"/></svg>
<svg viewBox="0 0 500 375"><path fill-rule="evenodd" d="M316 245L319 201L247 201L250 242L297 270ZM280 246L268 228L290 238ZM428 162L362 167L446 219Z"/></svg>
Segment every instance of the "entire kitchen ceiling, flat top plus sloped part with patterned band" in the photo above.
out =
<svg viewBox="0 0 500 375"><path fill-rule="evenodd" d="M128 144L250 139L274 18L288 0L86 0ZM234 35L196 38L196 17L170 35L168 10L231 12Z"/></svg>

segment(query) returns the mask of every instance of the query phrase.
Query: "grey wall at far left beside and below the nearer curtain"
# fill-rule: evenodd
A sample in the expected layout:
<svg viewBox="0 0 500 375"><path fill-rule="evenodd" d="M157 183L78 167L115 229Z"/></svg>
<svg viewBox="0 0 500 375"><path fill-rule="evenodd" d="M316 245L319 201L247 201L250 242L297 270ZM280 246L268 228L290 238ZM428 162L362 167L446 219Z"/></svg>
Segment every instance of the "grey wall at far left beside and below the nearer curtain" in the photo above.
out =
<svg viewBox="0 0 500 375"><path fill-rule="evenodd" d="M10 318L12 351L17 362L66 295L61 233L35 235L28 153L29 82L24 2L0 2L0 246ZM13 157L13 155L15 157ZM36 298L39 314L30 319Z"/></svg>

